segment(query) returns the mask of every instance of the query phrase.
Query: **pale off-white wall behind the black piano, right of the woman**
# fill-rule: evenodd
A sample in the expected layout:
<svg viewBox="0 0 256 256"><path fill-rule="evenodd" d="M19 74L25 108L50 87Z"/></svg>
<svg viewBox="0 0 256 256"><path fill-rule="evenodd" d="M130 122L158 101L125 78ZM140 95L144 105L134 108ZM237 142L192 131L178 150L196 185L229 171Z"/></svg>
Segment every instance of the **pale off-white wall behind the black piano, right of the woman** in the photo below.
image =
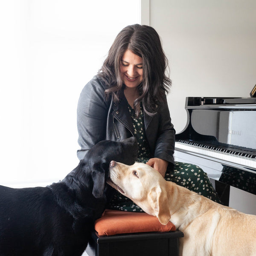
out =
<svg viewBox="0 0 256 256"><path fill-rule="evenodd" d="M148 23L169 59L168 100L177 133L186 125L186 96L250 97L256 84L255 0L143 2L149 8L142 17L149 9Z"/></svg>

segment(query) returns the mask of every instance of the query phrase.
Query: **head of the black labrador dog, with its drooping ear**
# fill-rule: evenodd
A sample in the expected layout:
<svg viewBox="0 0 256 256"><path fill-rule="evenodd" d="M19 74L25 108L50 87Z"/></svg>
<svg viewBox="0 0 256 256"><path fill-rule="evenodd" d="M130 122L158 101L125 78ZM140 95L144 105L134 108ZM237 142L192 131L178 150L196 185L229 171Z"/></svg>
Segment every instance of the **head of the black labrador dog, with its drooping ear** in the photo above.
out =
<svg viewBox="0 0 256 256"><path fill-rule="evenodd" d="M111 160L132 165L137 159L137 154L138 146L135 137L120 142L102 140L87 152L76 169L63 181L71 183L72 180L74 186L92 189L93 196L101 198Z"/></svg>

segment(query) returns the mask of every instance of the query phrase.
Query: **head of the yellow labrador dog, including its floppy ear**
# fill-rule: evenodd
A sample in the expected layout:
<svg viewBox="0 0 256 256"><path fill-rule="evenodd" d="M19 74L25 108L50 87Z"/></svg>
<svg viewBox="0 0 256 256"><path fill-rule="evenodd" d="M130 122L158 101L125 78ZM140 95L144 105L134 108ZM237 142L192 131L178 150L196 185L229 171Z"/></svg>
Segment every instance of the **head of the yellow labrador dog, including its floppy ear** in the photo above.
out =
<svg viewBox="0 0 256 256"><path fill-rule="evenodd" d="M156 216L161 224L166 225L170 220L166 181L151 166L144 163L128 166L111 161L107 183L143 211Z"/></svg>

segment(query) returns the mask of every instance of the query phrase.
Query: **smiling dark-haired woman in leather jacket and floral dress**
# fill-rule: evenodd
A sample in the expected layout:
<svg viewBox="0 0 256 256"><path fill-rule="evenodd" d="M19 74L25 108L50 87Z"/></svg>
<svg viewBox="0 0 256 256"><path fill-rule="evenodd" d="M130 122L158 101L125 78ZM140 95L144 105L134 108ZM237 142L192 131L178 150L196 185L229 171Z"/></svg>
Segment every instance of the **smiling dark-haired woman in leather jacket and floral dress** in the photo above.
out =
<svg viewBox="0 0 256 256"><path fill-rule="evenodd" d="M119 141L135 136L139 145L138 161L152 166L167 180L218 201L201 169L190 165L180 172L180 164L174 161L175 129L166 100L171 86L167 67L155 29L135 24L119 32L101 70L79 98L78 157L81 160L101 140ZM109 207L142 211L118 192Z"/></svg>

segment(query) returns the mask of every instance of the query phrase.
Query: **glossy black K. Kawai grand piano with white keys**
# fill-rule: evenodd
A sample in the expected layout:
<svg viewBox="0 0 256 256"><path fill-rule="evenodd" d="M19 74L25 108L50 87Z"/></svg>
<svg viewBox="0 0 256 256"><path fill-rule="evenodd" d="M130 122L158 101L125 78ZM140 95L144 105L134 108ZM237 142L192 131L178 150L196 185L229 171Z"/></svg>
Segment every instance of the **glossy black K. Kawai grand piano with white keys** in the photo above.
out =
<svg viewBox="0 0 256 256"><path fill-rule="evenodd" d="M175 160L207 173L224 205L256 215L256 98L187 97Z"/></svg>

